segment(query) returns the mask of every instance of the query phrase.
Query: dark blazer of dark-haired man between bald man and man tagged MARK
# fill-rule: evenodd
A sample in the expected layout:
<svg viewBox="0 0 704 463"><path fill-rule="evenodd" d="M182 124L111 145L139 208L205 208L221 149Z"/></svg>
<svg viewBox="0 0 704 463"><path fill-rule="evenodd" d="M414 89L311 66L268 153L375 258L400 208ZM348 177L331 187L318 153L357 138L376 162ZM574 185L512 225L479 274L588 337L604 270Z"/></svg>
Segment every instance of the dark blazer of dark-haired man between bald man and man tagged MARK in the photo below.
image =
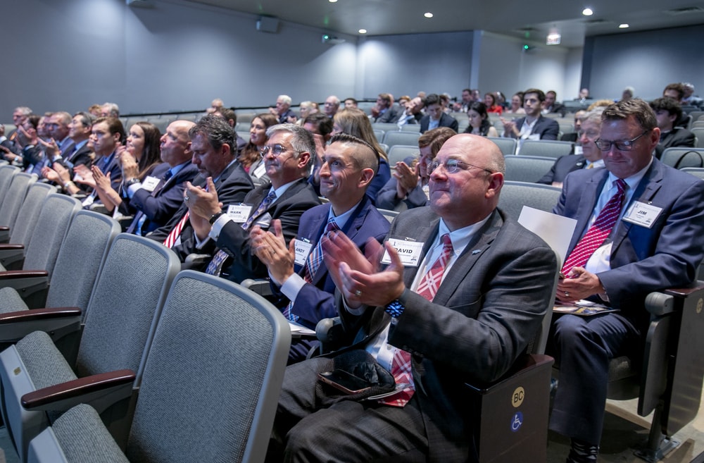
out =
<svg viewBox="0 0 704 463"><path fill-rule="evenodd" d="M199 173L191 183L196 186L205 187L206 177ZM251 178L247 175L239 162L234 162L230 164L230 166L227 166L225 171L222 171L220 174L218 181L215 182L215 191L218 192L218 200L222 202L222 204L242 202L253 187L254 185ZM183 204L183 197L181 202L181 206L178 211L176 211L176 214L172 216L171 220L168 221L165 226L154 230L148 237L156 241L163 241L168 237L171 230L173 230L188 211L186 204ZM190 221L187 222L183 230L181 230L181 245L175 246L173 249L179 254L181 261L192 252L200 252L196 250L195 237Z"/></svg>

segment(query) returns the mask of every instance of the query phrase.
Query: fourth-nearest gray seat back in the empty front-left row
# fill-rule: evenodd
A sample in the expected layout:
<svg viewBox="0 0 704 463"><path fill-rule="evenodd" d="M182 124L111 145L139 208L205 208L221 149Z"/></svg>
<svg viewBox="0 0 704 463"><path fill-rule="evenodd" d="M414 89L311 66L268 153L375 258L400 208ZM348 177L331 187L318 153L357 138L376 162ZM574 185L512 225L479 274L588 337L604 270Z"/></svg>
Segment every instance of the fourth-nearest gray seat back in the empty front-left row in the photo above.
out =
<svg viewBox="0 0 704 463"><path fill-rule="evenodd" d="M19 175L19 174L18 174ZM80 211L81 203L65 195L51 194L46 197L39 211L30 244L25 253L25 270L46 270L51 277L61 242L66 235L73 216Z"/></svg>

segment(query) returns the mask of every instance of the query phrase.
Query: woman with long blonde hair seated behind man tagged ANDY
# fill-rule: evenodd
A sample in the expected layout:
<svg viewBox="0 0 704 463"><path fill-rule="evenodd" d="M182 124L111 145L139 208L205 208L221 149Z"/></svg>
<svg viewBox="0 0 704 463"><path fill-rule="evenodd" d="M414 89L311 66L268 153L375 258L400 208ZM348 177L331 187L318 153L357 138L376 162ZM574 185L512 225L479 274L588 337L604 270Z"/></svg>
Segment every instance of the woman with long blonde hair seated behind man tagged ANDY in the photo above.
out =
<svg viewBox="0 0 704 463"><path fill-rule="evenodd" d="M377 198L377 192L379 192L379 190L386 185L386 182L389 181L389 178L391 178L389 158L386 157L386 153L382 147L379 146L377 137L374 135L374 130L372 129L372 123L370 123L364 111L355 108L337 111L333 118L331 135L340 132L361 138L371 144L379 154L379 170L377 171L377 175L374 176L372 183L367 187L367 196L374 202Z"/></svg>

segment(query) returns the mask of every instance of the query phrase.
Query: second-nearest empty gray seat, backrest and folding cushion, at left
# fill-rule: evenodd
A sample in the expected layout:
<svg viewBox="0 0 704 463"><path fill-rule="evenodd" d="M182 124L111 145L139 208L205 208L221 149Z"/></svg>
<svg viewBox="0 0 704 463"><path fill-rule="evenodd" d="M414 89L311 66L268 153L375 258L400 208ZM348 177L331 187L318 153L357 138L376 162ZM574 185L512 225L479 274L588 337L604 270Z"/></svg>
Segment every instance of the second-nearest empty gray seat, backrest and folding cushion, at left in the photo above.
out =
<svg viewBox="0 0 704 463"><path fill-rule="evenodd" d="M3 414L20 458L26 456L30 440L49 425L46 412L23 409L20 398L75 378L117 369L137 371L179 269L170 249L122 233L113 241L92 291L75 361L62 362L43 331L30 333L0 353ZM76 400L90 402L89 397Z"/></svg>

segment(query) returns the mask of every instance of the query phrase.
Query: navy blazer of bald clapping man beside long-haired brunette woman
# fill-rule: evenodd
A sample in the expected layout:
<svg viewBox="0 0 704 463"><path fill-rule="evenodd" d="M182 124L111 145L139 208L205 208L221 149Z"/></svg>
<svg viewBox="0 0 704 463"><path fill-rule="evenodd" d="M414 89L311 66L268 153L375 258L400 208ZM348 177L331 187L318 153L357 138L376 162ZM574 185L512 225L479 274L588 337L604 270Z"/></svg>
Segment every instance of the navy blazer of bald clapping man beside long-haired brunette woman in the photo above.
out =
<svg viewBox="0 0 704 463"><path fill-rule="evenodd" d="M151 175L162 178L170 168L168 163L161 163L154 168ZM186 182L193 181L196 175L198 175L198 168L194 164L188 163L156 192L149 192L144 188L134 192L134 196L130 199L130 207L137 211L137 214L134 215L134 221L132 221L134 227L137 227L137 223L144 215L146 215L146 219L142 224L142 235L168 223L183 205L183 190L186 187Z"/></svg>

